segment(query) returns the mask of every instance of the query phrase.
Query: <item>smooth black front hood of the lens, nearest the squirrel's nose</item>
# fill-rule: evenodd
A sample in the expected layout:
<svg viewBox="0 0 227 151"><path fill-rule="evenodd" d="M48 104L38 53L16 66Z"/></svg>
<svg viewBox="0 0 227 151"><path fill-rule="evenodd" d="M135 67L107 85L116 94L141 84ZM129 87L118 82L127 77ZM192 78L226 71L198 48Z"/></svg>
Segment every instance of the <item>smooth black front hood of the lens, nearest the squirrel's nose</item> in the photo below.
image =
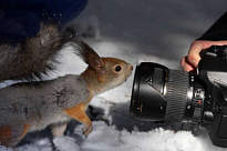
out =
<svg viewBox="0 0 227 151"><path fill-rule="evenodd" d="M157 63L143 62L136 67L130 111L135 118L161 121L165 119L165 73L168 69Z"/></svg>

